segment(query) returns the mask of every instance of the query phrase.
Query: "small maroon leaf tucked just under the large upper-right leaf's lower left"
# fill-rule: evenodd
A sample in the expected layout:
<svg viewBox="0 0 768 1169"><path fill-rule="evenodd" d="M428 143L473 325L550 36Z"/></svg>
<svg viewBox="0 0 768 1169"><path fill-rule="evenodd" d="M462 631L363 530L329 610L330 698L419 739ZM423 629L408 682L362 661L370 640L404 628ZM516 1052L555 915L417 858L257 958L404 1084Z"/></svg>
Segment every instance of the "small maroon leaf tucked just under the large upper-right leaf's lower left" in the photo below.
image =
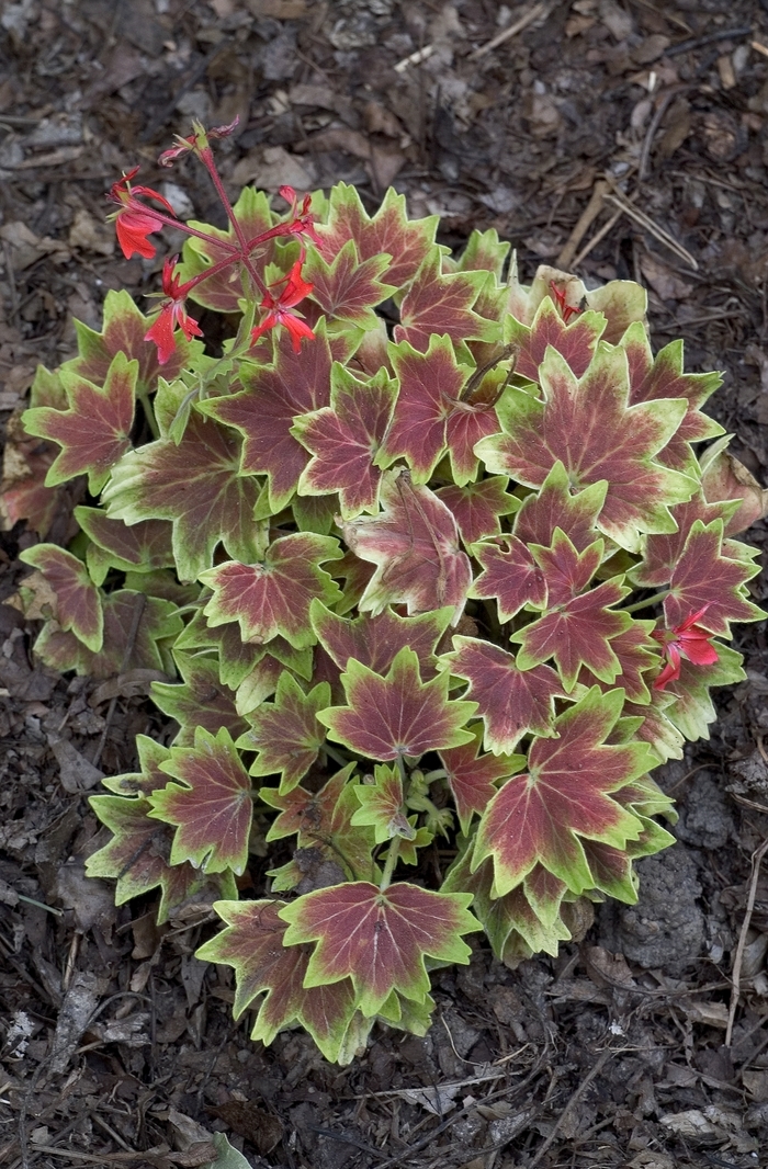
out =
<svg viewBox="0 0 768 1169"><path fill-rule="evenodd" d="M559 527L574 547L583 552L597 535L597 518L607 491L608 483L601 479L572 494L568 472L558 459L541 490L523 500L514 518L514 534L524 544L540 544L546 548Z"/></svg>

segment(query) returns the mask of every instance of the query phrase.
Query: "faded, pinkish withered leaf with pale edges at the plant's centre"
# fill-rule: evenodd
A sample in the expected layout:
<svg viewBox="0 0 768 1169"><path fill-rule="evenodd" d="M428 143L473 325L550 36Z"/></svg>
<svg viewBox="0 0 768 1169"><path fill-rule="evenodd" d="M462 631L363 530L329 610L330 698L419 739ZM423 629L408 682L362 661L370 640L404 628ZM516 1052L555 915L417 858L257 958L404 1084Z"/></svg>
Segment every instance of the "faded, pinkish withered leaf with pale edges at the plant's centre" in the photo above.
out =
<svg viewBox="0 0 768 1169"><path fill-rule="evenodd" d="M451 512L429 487L396 470L383 476L381 503L379 516L343 526L352 552L376 565L360 609L376 614L403 603L409 613L425 613L450 604L458 618L472 570Z"/></svg>

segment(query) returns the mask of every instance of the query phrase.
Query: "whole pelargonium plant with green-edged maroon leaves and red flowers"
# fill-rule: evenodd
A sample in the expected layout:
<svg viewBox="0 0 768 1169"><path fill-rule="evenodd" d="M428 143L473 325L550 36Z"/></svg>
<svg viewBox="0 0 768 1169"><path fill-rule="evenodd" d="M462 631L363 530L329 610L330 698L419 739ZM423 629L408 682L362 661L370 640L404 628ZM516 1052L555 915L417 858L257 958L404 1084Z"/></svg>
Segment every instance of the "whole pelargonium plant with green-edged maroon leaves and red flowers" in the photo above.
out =
<svg viewBox="0 0 768 1169"><path fill-rule="evenodd" d="M374 1021L425 1032L466 935L514 966L577 902L637 900L632 862L672 842L651 773L743 677L757 509L701 409L718 375L653 354L637 284L523 285L496 231L455 257L394 191L233 207L228 129L161 158L202 161L226 229L112 187L126 256L166 224L184 251L159 311L110 292L37 372L5 514L44 538L87 476L70 547L22 554L36 653L154 678L178 724L91 798L89 872L118 904L159 887L161 922L213 902L198 954L254 1038L300 1024L344 1061Z"/></svg>

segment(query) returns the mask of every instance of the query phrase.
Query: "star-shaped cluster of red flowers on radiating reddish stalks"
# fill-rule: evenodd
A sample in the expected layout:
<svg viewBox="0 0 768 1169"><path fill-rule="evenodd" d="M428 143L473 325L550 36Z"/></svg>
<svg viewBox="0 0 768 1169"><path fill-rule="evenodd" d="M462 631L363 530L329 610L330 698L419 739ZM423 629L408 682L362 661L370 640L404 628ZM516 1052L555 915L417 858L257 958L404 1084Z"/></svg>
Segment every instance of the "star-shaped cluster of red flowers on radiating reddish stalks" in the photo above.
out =
<svg viewBox="0 0 768 1169"><path fill-rule="evenodd" d="M174 351L174 331L177 327L181 328L187 340L193 337L202 337L202 330L200 328L198 321L189 317L185 309L185 299L188 297L189 292L201 281L209 279L215 272L233 265L240 265L243 268L251 278L252 284L256 285L256 289L262 295L260 307L265 311L265 317L261 324L252 330L251 337L254 341L256 341L268 330L275 328L277 325L284 325L290 334L293 350L298 353L302 346L302 340L304 338L312 339L314 337L310 326L302 320L299 316L291 312L291 310L295 309L296 305L312 291L312 284L305 281L302 276L304 254L302 253L302 256L296 261L286 276L275 281L269 286L264 284L258 270L252 263L252 255L256 249L260 245L265 244L269 240L274 240L278 236L288 235L307 238L311 240L316 247L321 247L321 240L314 230L314 220L311 212L311 196L305 195L299 206L293 188L281 187L281 195L290 205L288 219L257 236L247 238L243 233L242 224L236 219L234 209L229 202L209 145L209 139L224 138L227 134L233 132L236 125L237 119L235 119L229 126L219 126L217 129L206 131L199 123L194 123L194 133L192 133L188 138L177 137L177 145L171 147L171 150L164 151L159 159L162 166L171 166L173 160L179 158L181 154L192 152L198 155L210 174L213 184L224 206L227 217L229 219L233 228L234 240L227 241L222 240L220 236L214 237L208 233L200 231L196 228L191 227L188 223L185 223L182 220L179 220L167 199L165 199L158 191L153 191L152 187L131 187L131 179L137 174L139 170L138 166L127 174L124 174L118 182L113 184L108 195L110 201L117 203L119 208L110 216L110 219L115 220L117 237L126 260L130 260L131 256L136 254L144 256L145 260L152 260L155 255L155 247L150 242L148 236L152 235L153 231L160 230L164 226L174 227L181 229L187 235L206 240L208 243L214 244L220 254L222 251L224 253L221 260L206 268L205 271L193 276L184 284L175 271L178 257L165 261L162 268L162 292L168 300L162 306L157 320L154 320L151 328L146 333L146 339L154 341L158 347L158 360L160 365L165 365ZM159 203L162 209L147 207L139 196L153 200L155 203ZM168 214L166 214L166 212Z"/></svg>

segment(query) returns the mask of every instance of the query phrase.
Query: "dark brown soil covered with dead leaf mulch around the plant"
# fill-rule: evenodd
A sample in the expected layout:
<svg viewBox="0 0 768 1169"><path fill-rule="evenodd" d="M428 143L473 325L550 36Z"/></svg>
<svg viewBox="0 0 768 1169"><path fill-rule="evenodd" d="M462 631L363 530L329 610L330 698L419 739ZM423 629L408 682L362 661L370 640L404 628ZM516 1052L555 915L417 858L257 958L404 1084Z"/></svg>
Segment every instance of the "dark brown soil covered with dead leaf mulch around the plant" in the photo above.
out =
<svg viewBox="0 0 768 1169"><path fill-rule="evenodd" d="M238 115L233 192L343 179L373 208L394 182L445 243L494 227L524 277L575 257L587 281L643 282L656 344L684 337L691 368L724 371L712 411L766 482L766 0L19 0L0 33L4 426L35 364L71 355L72 317L97 326L108 289L143 303L159 285L162 253L117 251L105 188L140 162L217 222L205 175L155 159L191 117ZM56 525L63 542L69 511ZM764 523L748 538L764 547ZM0 601L30 542L2 533ZM660 769L679 843L639 864L639 904L599 907L580 942L514 971L477 945L435 975L427 1038L376 1031L347 1068L233 1023L228 971L193 956L205 911L159 931L152 904L116 908L84 879L88 793L164 727L145 700L109 717L89 682L40 669L34 631L0 606L1 1163L203 1164L216 1132L290 1169L766 1163L763 628L736 634L748 677L712 738Z"/></svg>

